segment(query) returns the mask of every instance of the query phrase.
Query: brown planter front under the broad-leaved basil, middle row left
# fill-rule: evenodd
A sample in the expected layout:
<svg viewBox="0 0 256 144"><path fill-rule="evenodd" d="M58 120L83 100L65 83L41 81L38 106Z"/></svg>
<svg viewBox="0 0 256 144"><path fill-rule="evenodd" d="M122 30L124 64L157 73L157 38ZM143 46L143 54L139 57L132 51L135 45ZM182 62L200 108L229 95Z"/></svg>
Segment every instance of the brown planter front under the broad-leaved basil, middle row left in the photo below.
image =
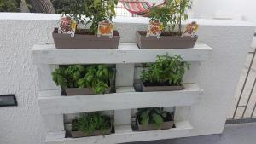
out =
<svg viewBox="0 0 256 144"><path fill-rule="evenodd" d="M90 89L90 88L83 88L83 89L67 88L64 90L65 90L65 93L67 96L70 96L70 95L95 95L95 92L93 91L93 89ZM110 90L111 90L111 88L108 88L105 91L105 94L109 94Z"/></svg>

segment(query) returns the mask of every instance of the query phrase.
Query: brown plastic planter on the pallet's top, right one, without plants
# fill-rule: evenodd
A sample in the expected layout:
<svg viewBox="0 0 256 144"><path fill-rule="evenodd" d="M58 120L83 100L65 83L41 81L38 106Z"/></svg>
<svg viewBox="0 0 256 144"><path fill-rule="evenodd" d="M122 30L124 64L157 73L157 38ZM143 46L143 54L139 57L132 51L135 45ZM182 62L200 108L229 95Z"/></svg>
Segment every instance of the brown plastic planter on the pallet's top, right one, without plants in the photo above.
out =
<svg viewBox="0 0 256 144"><path fill-rule="evenodd" d="M147 32L137 32L137 45L140 49L188 49L194 48L198 36L177 37L177 36L161 36L146 37Z"/></svg>

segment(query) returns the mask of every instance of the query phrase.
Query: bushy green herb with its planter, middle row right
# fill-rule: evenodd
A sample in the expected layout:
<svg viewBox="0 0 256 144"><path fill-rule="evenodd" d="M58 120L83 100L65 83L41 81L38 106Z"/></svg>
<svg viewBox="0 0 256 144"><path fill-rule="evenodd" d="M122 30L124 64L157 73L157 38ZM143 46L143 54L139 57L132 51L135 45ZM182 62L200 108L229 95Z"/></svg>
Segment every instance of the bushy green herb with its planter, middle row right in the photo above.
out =
<svg viewBox="0 0 256 144"><path fill-rule="evenodd" d="M143 64L141 89L147 91L172 91L183 89L182 80L189 63L181 55L158 55L155 63Z"/></svg>

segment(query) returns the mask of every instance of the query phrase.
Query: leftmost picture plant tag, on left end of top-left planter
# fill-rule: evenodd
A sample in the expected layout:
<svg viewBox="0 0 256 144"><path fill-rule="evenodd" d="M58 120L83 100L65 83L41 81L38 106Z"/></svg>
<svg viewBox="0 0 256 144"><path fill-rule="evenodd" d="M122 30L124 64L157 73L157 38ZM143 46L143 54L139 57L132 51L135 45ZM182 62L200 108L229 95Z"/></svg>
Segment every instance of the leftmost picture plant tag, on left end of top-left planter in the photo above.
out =
<svg viewBox="0 0 256 144"><path fill-rule="evenodd" d="M58 33L70 34L71 37L74 37L76 28L77 23L70 16L62 16L58 27Z"/></svg>

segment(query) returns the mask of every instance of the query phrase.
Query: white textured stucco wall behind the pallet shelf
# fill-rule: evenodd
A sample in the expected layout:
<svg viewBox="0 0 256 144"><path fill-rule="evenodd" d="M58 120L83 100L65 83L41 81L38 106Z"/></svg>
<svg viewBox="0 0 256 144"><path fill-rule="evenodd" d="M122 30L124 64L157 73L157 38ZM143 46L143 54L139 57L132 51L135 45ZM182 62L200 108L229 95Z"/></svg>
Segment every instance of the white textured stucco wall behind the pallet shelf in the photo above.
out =
<svg viewBox="0 0 256 144"><path fill-rule="evenodd" d="M42 144L44 124L39 115L36 90L38 77L31 60L35 43L52 43L51 31L58 15L0 14L0 94L17 95L19 107L0 108L0 144ZM123 42L135 42L136 30L145 29L146 19L117 19ZM129 21L129 23L127 23ZM186 76L205 95L191 107L189 135L221 133L231 107L242 64L253 38L252 24L240 21L198 20L199 37L213 48L212 60L195 63L199 69ZM195 73L196 72L196 73Z"/></svg>

